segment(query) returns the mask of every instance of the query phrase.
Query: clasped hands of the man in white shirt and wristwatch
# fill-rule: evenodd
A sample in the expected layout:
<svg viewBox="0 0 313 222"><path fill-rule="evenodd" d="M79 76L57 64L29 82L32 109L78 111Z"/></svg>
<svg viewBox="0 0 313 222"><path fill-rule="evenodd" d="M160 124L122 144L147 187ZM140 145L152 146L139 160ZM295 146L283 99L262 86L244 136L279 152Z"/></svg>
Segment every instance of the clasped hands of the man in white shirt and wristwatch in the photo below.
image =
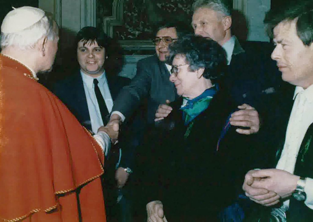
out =
<svg viewBox="0 0 313 222"><path fill-rule="evenodd" d="M299 178L279 169L250 170L245 175L242 188L252 201L272 206L293 194Z"/></svg>

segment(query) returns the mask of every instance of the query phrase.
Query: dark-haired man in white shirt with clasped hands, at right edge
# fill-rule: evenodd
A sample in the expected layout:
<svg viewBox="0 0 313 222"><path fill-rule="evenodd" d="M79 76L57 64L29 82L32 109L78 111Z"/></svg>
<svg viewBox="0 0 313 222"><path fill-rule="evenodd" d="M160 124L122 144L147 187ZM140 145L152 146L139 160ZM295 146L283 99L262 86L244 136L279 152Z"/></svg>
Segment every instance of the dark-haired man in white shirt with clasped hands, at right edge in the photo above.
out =
<svg viewBox="0 0 313 222"><path fill-rule="evenodd" d="M254 202L265 206L280 203L272 209L272 214L281 212L287 221L311 221L313 218L312 18L310 1L300 1L279 12L271 10L265 17L269 28L274 27L275 49L271 58L277 62L282 79L296 86L294 103L284 145L276 151L276 168L251 170L243 184L246 195Z"/></svg>

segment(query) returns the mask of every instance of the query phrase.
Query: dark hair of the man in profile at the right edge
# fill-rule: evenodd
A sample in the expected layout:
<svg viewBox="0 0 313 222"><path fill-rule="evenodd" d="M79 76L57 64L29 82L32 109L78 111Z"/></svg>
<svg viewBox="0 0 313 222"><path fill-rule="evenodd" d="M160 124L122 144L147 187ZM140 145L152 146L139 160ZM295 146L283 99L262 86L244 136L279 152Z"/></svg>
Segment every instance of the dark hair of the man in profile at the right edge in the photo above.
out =
<svg viewBox="0 0 313 222"><path fill-rule="evenodd" d="M282 21L296 21L297 35L305 45L313 42L313 1L298 0L286 3L285 7L269 10L264 18L269 37L273 37L273 29Z"/></svg>

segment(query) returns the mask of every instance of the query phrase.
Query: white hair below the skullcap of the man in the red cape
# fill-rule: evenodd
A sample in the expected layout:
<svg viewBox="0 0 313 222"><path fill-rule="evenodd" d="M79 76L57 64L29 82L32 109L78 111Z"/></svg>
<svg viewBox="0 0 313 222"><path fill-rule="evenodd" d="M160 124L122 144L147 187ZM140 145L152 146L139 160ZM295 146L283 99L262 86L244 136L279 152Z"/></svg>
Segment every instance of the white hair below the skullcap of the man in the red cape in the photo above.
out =
<svg viewBox="0 0 313 222"><path fill-rule="evenodd" d="M53 20L44 16L38 22L22 31L1 33L0 46L1 49L8 46L17 46L20 49L30 49L34 48L35 44L42 37L47 36L48 40L54 40L57 35Z"/></svg>

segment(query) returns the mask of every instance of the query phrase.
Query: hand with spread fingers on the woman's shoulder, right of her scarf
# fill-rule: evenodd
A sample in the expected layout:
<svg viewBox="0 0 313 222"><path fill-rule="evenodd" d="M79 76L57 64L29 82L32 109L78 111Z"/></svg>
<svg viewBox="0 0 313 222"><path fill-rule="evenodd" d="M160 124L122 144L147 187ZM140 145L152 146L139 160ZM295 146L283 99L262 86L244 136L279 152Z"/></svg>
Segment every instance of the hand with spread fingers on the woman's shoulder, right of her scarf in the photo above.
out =
<svg viewBox="0 0 313 222"><path fill-rule="evenodd" d="M253 134L259 132L260 119L259 113L252 106L248 104L242 104L238 106L239 111L233 112L231 115L230 124L233 126L249 127L250 129L236 129L236 132L240 134Z"/></svg>

